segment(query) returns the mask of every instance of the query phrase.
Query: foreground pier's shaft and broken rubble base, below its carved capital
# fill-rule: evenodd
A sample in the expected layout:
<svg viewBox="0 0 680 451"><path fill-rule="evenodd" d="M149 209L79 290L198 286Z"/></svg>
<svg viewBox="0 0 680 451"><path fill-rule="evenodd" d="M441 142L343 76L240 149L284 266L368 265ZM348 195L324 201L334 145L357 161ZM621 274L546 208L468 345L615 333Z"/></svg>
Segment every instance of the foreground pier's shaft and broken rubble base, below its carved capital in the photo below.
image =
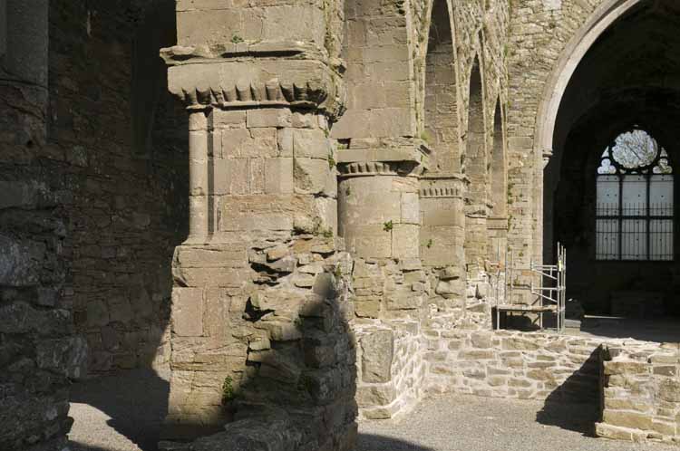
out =
<svg viewBox="0 0 680 451"><path fill-rule="evenodd" d="M193 113L190 192L206 235L175 253L161 447L201 436L193 446L354 443L353 262L335 235L326 130L309 110Z"/></svg>

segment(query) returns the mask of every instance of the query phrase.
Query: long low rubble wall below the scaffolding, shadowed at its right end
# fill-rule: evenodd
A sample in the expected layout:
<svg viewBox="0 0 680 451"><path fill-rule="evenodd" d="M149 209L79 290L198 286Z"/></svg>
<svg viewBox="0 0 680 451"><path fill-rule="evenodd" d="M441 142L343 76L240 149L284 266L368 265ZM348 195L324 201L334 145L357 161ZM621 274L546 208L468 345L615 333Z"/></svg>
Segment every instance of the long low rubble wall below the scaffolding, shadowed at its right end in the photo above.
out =
<svg viewBox="0 0 680 451"><path fill-rule="evenodd" d="M520 331L431 331L429 392L595 401L600 341Z"/></svg>

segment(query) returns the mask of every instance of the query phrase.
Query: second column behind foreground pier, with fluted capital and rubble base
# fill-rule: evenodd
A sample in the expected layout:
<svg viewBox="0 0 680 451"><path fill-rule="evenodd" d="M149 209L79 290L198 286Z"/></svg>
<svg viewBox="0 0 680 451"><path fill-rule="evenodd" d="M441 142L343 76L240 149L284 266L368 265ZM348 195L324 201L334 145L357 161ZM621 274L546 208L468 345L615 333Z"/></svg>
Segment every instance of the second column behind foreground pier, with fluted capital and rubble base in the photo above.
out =
<svg viewBox="0 0 680 451"><path fill-rule="evenodd" d="M356 402L365 418L413 405L423 383L418 187L427 160L416 139L352 139L338 150L338 228L354 257Z"/></svg>

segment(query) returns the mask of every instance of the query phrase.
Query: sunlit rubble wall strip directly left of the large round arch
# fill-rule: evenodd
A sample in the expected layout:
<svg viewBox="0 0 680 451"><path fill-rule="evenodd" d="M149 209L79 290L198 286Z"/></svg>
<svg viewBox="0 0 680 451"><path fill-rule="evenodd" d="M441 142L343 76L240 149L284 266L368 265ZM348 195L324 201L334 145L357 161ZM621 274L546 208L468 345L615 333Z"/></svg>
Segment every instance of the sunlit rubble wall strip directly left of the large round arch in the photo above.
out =
<svg viewBox="0 0 680 451"><path fill-rule="evenodd" d="M534 138L549 75L568 41L603 0L519 0L510 5L508 54L509 242L518 264L542 260L543 156Z"/></svg>

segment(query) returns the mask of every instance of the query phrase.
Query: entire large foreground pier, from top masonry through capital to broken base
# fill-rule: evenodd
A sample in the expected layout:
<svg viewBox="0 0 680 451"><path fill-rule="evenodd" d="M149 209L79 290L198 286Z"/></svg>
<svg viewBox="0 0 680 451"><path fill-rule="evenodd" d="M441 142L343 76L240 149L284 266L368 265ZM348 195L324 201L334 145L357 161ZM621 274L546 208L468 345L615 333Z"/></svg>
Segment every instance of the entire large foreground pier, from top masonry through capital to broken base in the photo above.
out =
<svg viewBox="0 0 680 451"><path fill-rule="evenodd" d="M344 93L323 15L337 17L336 5L215 5L178 2L181 45L161 52L190 111L189 238L173 262L163 437L229 423L207 440L231 449L260 427L286 449L351 448L352 264L336 238L328 138Z"/></svg>

